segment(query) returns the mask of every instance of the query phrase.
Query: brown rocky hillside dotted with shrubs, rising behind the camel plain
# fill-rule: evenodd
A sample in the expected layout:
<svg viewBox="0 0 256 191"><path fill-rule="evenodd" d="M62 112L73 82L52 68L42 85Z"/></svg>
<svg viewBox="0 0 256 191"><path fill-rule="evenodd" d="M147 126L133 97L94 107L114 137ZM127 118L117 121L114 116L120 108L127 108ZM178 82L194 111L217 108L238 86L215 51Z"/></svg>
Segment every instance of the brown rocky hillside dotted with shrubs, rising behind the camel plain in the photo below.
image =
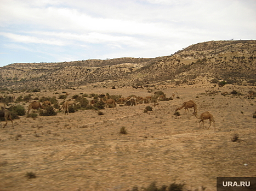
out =
<svg viewBox="0 0 256 191"><path fill-rule="evenodd" d="M208 41L157 58L14 63L0 68L1 88L67 88L103 82L193 84L202 79L256 81L256 40Z"/></svg>

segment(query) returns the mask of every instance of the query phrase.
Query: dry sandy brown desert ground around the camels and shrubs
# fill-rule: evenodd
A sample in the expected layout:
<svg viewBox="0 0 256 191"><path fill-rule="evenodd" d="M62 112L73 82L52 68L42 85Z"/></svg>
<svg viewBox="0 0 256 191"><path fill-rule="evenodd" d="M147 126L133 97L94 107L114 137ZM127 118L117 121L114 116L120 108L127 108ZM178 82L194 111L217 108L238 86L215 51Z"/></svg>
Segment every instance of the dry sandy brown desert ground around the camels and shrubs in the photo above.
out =
<svg viewBox="0 0 256 191"><path fill-rule="evenodd" d="M184 183L185 190L216 190L218 176L256 176L256 99L221 95L236 90L244 95L253 86L215 87L219 94L206 96L209 86L160 86L167 97L178 92L179 98L161 101L153 111L144 112L152 103L95 110L79 110L69 115L38 116L35 120L20 116L0 128L0 190L144 190ZM151 96L146 88L98 88L84 86L32 93L34 97L56 96L66 91L109 93L123 97ZM156 90L154 90L156 91ZM15 93L15 97L29 93ZM199 127L189 109L179 110L194 100L198 114L209 111L209 120ZM61 100L59 100L61 102ZM2 126L4 122L1 122ZM127 134L120 134L125 127ZM234 136L237 141L232 141ZM27 178L27 172L36 178Z"/></svg>

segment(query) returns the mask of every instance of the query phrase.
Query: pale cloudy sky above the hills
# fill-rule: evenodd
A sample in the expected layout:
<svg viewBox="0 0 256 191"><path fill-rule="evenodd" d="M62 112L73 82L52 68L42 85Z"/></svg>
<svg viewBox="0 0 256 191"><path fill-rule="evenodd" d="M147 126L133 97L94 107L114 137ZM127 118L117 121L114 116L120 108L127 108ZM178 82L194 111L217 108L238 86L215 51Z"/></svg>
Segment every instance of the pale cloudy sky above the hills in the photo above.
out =
<svg viewBox="0 0 256 191"><path fill-rule="evenodd" d="M0 67L155 58L231 39L256 39L255 0L0 1Z"/></svg>

